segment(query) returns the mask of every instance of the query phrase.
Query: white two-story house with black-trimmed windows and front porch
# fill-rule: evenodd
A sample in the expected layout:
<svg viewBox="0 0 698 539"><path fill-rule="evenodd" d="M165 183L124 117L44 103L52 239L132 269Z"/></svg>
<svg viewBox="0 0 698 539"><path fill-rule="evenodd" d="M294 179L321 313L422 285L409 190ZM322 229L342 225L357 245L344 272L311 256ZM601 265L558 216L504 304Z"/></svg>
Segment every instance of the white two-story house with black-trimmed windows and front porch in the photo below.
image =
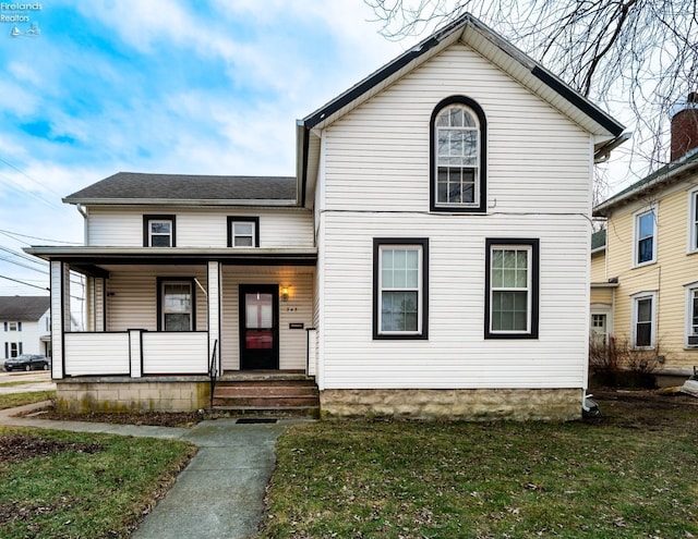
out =
<svg viewBox="0 0 698 539"><path fill-rule="evenodd" d="M294 177L74 193L86 245L26 249L51 265L59 397L201 407L213 363L302 370L327 415L579 417L593 162L622 132L465 15L299 121Z"/></svg>

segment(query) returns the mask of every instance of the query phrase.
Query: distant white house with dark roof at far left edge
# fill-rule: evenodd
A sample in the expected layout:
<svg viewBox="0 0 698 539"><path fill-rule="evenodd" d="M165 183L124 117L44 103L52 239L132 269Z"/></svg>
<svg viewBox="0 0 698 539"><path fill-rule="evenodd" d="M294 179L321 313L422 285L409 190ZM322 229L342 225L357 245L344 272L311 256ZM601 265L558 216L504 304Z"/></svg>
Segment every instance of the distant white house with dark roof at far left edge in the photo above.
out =
<svg viewBox="0 0 698 539"><path fill-rule="evenodd" d="M2 357L51 355L51 311L48 296L0 296Z"/></svg>

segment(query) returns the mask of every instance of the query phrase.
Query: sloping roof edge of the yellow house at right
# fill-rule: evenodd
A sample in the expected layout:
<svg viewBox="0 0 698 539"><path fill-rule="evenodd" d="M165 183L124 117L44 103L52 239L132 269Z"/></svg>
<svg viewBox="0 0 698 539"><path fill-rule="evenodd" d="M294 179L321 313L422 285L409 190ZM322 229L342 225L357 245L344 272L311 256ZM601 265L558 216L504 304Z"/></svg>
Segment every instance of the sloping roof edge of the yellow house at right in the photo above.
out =
<svg viewBox="0 0 698 539"><path fill-rule="evenodd" d="M665 164L639 182L635 182L629 187L626 187L621 193L597 205L593 209L593 216L609 217L615 209L655 191L678 183L690 175L698 175L698 150L688 154L683 159Z"/></svg>

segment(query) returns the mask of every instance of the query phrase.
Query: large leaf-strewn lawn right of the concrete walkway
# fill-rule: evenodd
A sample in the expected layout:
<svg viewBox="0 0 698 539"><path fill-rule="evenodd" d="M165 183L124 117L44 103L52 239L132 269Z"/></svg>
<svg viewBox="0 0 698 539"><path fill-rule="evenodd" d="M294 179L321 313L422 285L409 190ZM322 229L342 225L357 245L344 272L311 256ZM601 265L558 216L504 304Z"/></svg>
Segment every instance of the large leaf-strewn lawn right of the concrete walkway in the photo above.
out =
<svg viewBox="0 0 698 539"><path fill-rule="evenodd" d="M602 409L565 425L296 426L260 537L698 537L698 407Z"/></svg>

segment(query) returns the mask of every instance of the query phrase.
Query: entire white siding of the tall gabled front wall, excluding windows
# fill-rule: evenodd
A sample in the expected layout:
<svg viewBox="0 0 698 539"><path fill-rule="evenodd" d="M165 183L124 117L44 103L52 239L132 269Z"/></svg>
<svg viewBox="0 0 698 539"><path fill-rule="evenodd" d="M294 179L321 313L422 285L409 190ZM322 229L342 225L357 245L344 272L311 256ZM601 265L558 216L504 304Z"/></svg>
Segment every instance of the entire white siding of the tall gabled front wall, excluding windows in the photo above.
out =
<svg viewBox="0 0 698 539"><path fill-rule="evenodd" d="M429 212L430 118L457 95L488 119L484 215ZM592 154L588 133L461 45L325 130L321 389L583 388ZM429 238L428 340L372 339L373 237ZM488 237L540 241L538 339L484 339Z"/></svg>

